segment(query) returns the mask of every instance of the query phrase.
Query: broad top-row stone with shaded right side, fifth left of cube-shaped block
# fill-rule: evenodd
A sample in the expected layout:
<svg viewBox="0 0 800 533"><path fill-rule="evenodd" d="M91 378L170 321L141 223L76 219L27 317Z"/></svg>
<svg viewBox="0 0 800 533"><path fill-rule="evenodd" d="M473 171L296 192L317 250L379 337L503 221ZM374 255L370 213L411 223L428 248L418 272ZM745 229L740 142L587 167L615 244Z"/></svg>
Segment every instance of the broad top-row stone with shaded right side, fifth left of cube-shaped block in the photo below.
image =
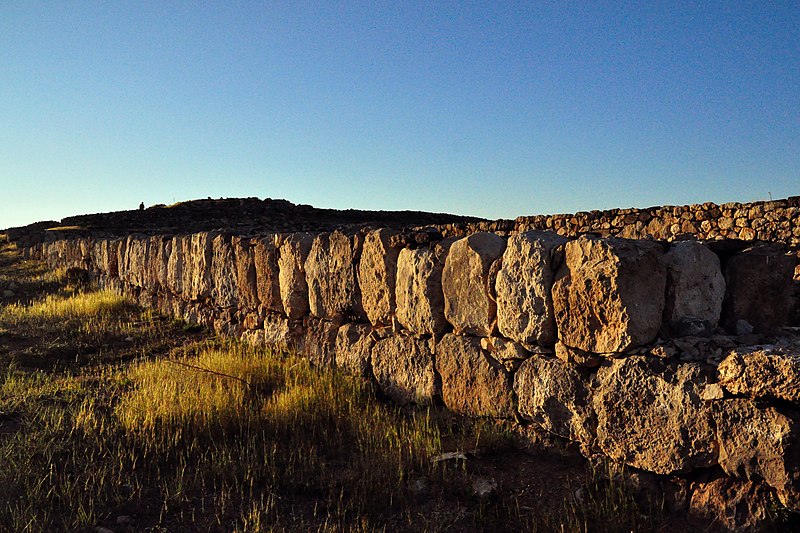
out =
<svg viewBox="0 0 800 533"><path fill-rule="evenodd" d="M337 323L360 318L358 252L356 240L340 231L314 239L306 259L308 305L313 316Z"/></svg>

